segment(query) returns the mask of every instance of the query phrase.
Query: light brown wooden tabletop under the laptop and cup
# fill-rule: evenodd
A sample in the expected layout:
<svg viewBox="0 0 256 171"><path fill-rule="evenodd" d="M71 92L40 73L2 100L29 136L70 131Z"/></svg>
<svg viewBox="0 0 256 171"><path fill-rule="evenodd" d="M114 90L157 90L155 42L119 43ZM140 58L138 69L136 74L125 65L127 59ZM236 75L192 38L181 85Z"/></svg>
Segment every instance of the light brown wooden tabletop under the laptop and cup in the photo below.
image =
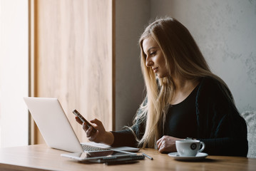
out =
<svg viewBox="0 0 256 171"><path fill-rule="evenodd" d="M7 147L0 148L0 170L256 170L256 158L208 156L205 160L198 162L183 162L153 149L140 150L140 152L145 152L154 160L145 158L145 160L126 165L83 164L61 157L65 152L51 149L46 145Z"/></svg>

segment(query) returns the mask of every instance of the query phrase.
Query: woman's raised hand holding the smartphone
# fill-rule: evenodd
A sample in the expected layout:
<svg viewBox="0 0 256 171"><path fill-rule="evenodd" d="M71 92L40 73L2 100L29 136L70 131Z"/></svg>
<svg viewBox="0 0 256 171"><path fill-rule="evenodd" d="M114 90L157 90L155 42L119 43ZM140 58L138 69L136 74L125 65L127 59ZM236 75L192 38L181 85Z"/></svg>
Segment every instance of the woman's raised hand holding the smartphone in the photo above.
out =
<svg viewBox="0 0 256 171"><path fill-rule="evenodd" d="M86 123L83 123L78 117L76 117L76 122L78 122L80 125L83 125L83 130L86 133L86 137L88 138L88 140L93 142L104 143L107 145L113 144L114 142L113 133L106 131L100 120L97 120L97 119L90 120L93 128L97 130L96 133L93 133L91 131L93 129L91 127L88 128Z"/></svg>

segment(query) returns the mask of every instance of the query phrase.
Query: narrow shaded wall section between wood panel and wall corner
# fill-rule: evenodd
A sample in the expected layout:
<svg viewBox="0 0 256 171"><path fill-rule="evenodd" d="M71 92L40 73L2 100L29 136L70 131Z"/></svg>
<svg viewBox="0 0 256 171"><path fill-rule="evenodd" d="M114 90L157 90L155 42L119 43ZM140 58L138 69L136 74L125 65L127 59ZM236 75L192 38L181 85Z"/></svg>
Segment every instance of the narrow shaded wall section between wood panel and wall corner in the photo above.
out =
<svg viewBox="0 0 256 171"><path fill-rule="evenodd" d="M131 125L143 100L138 39L150 17L148 2L116 1L116 130Z"/></svg>

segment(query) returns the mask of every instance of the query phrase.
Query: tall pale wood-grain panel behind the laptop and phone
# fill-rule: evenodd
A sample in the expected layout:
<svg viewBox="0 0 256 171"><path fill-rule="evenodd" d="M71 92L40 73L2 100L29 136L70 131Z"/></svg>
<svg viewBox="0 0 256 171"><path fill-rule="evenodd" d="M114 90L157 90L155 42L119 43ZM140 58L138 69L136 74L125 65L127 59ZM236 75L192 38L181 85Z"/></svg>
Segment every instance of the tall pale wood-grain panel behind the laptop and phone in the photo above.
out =
<svg viewBox="0 0 256 171"><path fill-rule="evenodd" d="M58 98L82 142L74 109L113 130L112 11L112 0L34 1L34 95ZM35 132L35 143L43 142Z"/></svg>

